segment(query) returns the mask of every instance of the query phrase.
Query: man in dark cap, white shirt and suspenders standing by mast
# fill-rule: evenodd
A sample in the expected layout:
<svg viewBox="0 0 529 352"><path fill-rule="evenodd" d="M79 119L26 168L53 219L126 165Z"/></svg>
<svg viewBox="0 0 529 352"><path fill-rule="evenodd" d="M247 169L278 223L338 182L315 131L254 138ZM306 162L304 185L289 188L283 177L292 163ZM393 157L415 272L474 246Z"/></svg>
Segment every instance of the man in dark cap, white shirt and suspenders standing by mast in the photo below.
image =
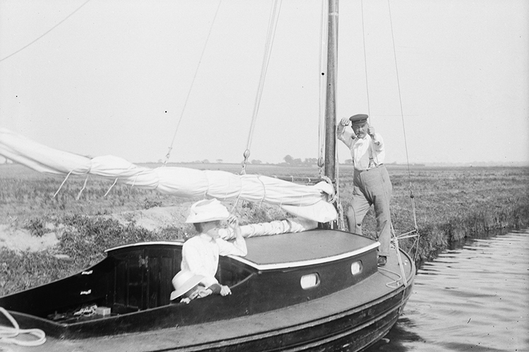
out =
<svg viewBox="0 0 529 352"><path fill-rule="evenodd" d="M391 181L384 166L384 141L367 123L367 115L358 114L343 118L337 127L338 139L348 146L355 167L353 175L353 199L347 209L349 231L362 234L362 221L370 206L375 207L377 240L380 242L379 266L386 265L391 241L391 217L389 199ZM353 133L346 131L351 122Z"/></svg>

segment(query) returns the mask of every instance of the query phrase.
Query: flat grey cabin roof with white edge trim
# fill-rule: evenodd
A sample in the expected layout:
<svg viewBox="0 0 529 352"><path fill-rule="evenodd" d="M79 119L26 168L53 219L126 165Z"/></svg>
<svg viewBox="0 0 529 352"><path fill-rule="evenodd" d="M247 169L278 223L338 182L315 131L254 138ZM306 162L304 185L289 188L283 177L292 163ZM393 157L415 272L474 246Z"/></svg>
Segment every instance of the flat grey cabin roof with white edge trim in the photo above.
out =
<svg viewBox="0 0 529 352"><path fill-rule="evenodd" d="M156 241L127 244L107 249L112 253L126 247L160 245L183 246L183 241ZM356 256L376 249L379 242L338 230L316 229L304 232L274 234L246 239L248 255L230 256L257 270L295 268L303 265L326 263Z"/></svg>

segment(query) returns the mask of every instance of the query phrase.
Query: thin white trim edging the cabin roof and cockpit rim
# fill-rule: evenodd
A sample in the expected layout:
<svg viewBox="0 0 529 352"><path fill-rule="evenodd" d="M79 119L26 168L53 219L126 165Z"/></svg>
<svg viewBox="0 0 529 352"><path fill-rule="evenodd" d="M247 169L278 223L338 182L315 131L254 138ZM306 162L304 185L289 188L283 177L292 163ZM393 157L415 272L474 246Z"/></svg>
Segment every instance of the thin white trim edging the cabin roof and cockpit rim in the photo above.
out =
<svg viewBox="0 0 529 352"><path fill-rule="evenodd" d="M170 246L183 246L183 242L180 241L150 241L150 242L138 242L134 244L123 244L123 246L117 246L111 249L107 249L104 252L108 253L110 251L116 251L117 249L123 249L127 247L135 247L135 246L153 246L157 244L168 244ZM250 261L248 259L245 259L240 256L228 256L229 258L232 258L233 260L237 260L241 263L244 263L252 268L255 268L257 270L277 270L277 269L288 269L288 268L298 268L300 266L308 266L308 265L316 265L316 264L323 264L323 263L329 263L335 260L340 260L343 258L350 258L352 256L358 256L358 254L365 253L367 251L371 251L372 249L377 248L380 246L380 242L374 242L370 244L369 246L365 246L361 249L357 249L355 251L341 253L336 256L330 256L325 258L318 258L318 259L310 259L310 260L299 260L296 262L286 262L286 263L273 263L273 264L257 264L253 261Z"/></svg>

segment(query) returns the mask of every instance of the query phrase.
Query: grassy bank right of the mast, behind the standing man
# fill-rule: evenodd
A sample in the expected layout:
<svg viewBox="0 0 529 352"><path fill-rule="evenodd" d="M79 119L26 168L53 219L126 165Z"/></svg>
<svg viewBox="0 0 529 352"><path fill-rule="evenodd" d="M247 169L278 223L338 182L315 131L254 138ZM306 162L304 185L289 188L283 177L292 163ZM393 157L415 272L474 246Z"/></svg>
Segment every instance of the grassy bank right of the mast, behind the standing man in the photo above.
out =
<svg viewBox="0 0 529 352"><path fill-rule="evenodd" d="M430 260L439 251L466 238L487 237L529 227L528 168L389 168L393 184L391 220L397 234L413 230L410 186L421 235L418 258ZM352 179L341 172L341 199L351 199ZM410 182L411 180L411 182ZM375 229L372 212L367 232ZM411 241L404 241L409 248ZM402 246L402 244L401 244Z"/></svg>

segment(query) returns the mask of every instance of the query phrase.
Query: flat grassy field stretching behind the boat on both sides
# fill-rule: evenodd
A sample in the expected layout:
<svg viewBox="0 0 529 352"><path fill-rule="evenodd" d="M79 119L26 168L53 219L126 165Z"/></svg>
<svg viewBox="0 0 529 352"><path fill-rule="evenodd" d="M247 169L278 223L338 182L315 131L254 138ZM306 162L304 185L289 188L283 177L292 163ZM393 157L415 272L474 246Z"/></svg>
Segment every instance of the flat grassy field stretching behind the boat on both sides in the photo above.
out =
<svg viewBox="0 0 529 352"><path fill-rule="evenodd" d="M157 165L145 165L156 167ZM176 165L241 172L241 165ZM413 208L421 234L419 260L427 260L451 243L529 225L529 168L408 168L388 166L394 186L391 216L397 234L413 230ZM318 169L279 165L248 165L248 173L317 177ZM352 168L341 165L339 192L345 207L351 199ZM0 165L0 225L24 228L37 237L56 232L59 243L44 251L15 251L0 246L0 296L82 270L104 258L104 249L151 239L177 239L192 232L183 224L196 199L166 196L97 178L70 177L55 196L62 177L50 177L20 165ZM109 191L109 189L111 190ZM104 194L109 191L107 196ZM134 221L122 224L114 213L173 206L173 224L145 230ZM231 203L233 206L233 203ZM286 216L272 206L238 202L235 211L242 223L262 222ZM372 211L364 220L364 234L372 234ZM409 247L411 241L403 241Z"/></svg>

